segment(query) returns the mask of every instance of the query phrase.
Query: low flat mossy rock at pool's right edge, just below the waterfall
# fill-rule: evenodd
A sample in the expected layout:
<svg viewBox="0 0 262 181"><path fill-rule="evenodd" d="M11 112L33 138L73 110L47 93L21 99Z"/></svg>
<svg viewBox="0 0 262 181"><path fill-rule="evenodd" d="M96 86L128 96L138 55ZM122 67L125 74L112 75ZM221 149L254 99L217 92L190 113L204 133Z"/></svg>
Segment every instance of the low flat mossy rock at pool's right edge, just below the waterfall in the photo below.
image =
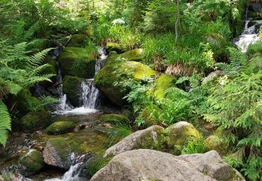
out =
<svg viewBox="0 0 262 181"><path fill-rule="evenodd" d="M99 118L101 123L112 123L113 125L129 125L129 118L122 114L104 114Z"/></svg>

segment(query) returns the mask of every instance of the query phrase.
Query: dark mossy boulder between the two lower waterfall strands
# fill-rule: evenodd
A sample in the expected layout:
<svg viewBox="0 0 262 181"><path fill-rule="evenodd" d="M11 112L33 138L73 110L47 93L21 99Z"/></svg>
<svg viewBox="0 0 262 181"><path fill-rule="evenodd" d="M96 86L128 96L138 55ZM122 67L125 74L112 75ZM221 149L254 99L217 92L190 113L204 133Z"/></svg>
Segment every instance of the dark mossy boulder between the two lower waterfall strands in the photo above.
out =
<svg viewBox="0 0 262 181"><path fill-rule="evenodd" d="M74 107L79 106L81 79L78 77L66 76L63 79L63 93Z"/></svg>

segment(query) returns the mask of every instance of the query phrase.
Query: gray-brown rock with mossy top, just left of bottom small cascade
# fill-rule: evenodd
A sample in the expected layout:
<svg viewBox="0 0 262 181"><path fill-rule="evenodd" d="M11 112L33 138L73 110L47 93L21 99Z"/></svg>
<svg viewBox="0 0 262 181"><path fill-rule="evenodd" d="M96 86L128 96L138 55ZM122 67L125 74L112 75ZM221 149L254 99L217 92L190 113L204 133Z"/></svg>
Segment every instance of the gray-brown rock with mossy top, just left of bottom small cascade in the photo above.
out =
<svg viewBox="0 0 262 181"><path fill-rule="evenodd" d="M62 138L48 140L43 150L45 164L68 169L71 166L71 154L73 149Z"/></svg>

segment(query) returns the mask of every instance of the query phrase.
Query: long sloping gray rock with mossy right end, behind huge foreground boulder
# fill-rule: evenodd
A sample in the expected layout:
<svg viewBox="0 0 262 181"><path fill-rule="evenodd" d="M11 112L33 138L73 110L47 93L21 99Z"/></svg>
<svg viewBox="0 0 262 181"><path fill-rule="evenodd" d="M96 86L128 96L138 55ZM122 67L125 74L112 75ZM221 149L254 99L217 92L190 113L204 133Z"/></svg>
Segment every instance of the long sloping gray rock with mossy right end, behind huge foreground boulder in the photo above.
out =
<svg viewBox="0 0 262 181"><path fill-rule="evenodd" d="M130 134L119 143L113 145L105 151L104 157L115 156L121 152L136 150L140 148L159 150L160 136L163 133L163 127L154 125L133 134Z"/></svg>

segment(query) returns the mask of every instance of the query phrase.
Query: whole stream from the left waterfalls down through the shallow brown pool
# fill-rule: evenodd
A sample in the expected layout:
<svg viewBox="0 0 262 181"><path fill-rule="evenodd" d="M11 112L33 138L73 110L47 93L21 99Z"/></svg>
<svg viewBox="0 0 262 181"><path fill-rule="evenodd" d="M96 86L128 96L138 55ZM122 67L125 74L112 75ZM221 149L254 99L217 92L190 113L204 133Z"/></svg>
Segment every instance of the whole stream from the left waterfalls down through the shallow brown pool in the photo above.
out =
<svg viewBox="0 0 262 181"><path fill-rule="evenodd" d="M101 70L103 61L105 61L106 52L103 47L98 48L100 58L96 61L95 72ZM52 52L53 59L57 59L61 49L57 48ZM66 95L62 92L62 77L59 63L57 63L57 90L59 93L59 105L52 113L53 122L57 121L73 121L76 127L73 132L61 134L59 137L66 139L68 143L76 143L87 152L87 155L75 157L71 155L72 165L68 171L63 171L52 166L45 166L40 173L29 178L24 178L19 173L13 175L12 180L50 180L50 181L66 181L66 180L87 180L80 178L79 175L83 169L83 165L87 160L83 159L88 156L89 152L99 152L103 148L103 143L106 137L103 133L94 130L93 125L101 116L101 111L96 110L99 103L99 90L94 86L94 79L83 79L80 86L80 107L72 107L70 102L66 100ZM9 171L15 168L15 164L20 154L26 150L34 148L43 150L45 143L49 139L57 137L56 135L44 134L43 130L38 130L34 133L12 132L9 136L6 148L0 150L0 171Z"/></svg>

